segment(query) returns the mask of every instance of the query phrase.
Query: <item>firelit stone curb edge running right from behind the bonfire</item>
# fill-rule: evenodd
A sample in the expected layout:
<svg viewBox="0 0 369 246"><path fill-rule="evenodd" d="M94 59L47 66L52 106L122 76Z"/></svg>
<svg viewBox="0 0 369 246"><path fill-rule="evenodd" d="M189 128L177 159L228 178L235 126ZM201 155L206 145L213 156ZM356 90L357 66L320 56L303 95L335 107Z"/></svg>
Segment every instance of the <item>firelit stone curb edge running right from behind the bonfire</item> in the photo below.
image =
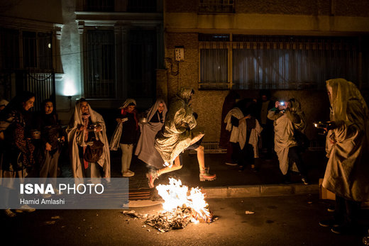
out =
<svg viewBox="0 0 369 246"><path fill-rule="evenodd" d="M258 186L226 186L203 188L207 199L250 196L286 196L319 194L318 184L265 184Z"/></svg>

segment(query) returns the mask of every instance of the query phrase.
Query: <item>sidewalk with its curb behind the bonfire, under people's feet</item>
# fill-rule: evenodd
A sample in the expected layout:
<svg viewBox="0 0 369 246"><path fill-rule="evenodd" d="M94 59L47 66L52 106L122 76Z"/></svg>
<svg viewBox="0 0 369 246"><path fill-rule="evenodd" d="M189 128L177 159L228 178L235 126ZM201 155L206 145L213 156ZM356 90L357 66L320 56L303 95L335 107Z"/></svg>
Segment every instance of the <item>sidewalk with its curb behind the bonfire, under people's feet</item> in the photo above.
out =
<svg viewBox="0 0 369 246"><path fill-rule="evenodd" d="M120 159L119 151L111 152L111 177L121 177ZM163 174L155 180L155 184L167 184L170 177L181 179L182 184L186 186L202 188L209 198L316 194L319 192L319 178L324 177L326 157L321 151L307 151L303 160L309 169L310 184L302 184L299 175L292 174L292 184L286 185L282 184L282 174L276 156L272 160L256 160L258 172L253 172L250 167L241 171L237 166L226 165L225 154L206 154L205 164L210 167L210 173L216 174L216 180L200 182L197 156L187 151L183 154L182 169ZM135 176L129 178L130 191L147 195L150 189L145 177L148 172L146 164L134 156L130 169L135 172Z"/></svg>

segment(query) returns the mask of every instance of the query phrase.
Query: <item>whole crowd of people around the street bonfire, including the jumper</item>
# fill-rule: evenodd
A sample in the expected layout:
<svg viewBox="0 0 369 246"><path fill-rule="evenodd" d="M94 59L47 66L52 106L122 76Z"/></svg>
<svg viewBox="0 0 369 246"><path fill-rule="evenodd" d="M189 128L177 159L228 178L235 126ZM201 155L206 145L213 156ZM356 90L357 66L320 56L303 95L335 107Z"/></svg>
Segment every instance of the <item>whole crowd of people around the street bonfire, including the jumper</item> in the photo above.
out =
<svg viewBox="0 0 369 246"><path fill-rule="evenodd" d="M323 186L336 194L333 220L321 220L323 226L341 233L356 223L360 202L369 200L369 111L355 84L345 79L326 82L331 114L326 128L326 157L329 158ZM182 88L170 101L163 99L141 115L136 101L127 99L116 112L116 129L109 140L104 118L86 99L75 104L70 123L62 128L53 100L42 102L33 113L35 94L24 91L9 103L0 101L0 177L56 178L62 146L67 144L73 177L111 177L110 151L121 149L121 175L132 177L134 155L148 165L148 185L153 188L161 174L181 169L184 150L196 150L199 180L211 181L216 174L205 166L202 140L204 131L197 127L197 113L191 107L192 88ZM141 117L140 117L141 116ZM230 91L224 101L219 145L226 149L226 164L244 169L249 165L258 172L255 158L265 150L265 159L274 154L285 184L291 172L298 172L309 184L307 165L302 158L306 148L307 119L297 99L272 101L269 91L260 91L259 99L240 99ZM135 148L136 147L136 148ZM3 181L4 183L4 181ZM1 184L8 195L12 184ZM34 211L23 206L16 212ZM6 209L7 216L16 213Z"/></svg>

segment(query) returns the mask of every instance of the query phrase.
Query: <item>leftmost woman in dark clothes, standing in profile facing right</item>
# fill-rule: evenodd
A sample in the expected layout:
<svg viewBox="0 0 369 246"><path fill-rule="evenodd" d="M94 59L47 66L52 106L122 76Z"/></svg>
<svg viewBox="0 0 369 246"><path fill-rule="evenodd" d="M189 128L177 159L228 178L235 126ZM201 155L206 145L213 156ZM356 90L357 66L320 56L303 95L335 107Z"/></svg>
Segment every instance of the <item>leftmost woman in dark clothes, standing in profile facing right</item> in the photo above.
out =
<svg viewBox="0 0 369 246"><path fill-rule="evenodd" d="M31 139L27 138L26 113L33 107L35 102L35 94L24 91L16 96L0 113L0 139L4 141L4 150L1 156L0 178L21 178L27 175L26 167L35 164L33 159L33 146ZM28 123L29 124L29 123ZM5 181L7 180L7 181ZM3 179L1 184L6 189L6 195L2 202L8 204L9 192L14 189L11 179ZM22 209L28 212L35 211L27 205L23 205ZM17 210L16 212L22 210ZM4 211L6 216L16 216L9 208Z"/></svg>

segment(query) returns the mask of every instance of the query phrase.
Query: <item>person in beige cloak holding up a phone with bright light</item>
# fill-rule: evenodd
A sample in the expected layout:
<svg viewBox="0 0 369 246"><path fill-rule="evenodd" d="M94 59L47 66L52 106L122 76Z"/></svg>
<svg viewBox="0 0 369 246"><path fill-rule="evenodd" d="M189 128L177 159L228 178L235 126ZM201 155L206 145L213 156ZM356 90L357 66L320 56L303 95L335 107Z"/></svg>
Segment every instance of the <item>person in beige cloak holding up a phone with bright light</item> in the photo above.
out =
<svg viewBox="0 0 369 246"><path fill-rule="evenodd" d="M290 184L290 170L299 172L304 184L307 180L307 167L302 161L301 153L294 131L303 132L306 128L306 118L299 101L276 101L275 107L268 112L268 118L274 121L274 150L280 162L280 171L284 183Z"/></svg>

